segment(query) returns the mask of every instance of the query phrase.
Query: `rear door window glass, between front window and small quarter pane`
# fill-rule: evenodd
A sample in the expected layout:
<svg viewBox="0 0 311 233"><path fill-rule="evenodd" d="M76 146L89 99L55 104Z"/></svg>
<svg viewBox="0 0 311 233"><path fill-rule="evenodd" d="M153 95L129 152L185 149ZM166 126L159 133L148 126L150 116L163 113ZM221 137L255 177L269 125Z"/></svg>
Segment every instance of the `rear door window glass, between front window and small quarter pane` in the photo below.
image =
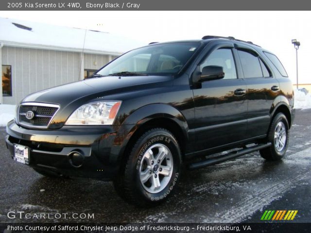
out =
<svg viewBox="0 0 311 233"><path fill-rule="evenodd" d="M263 77L259 58L252 52L238 50L243 68L244 78Z"/></svg>

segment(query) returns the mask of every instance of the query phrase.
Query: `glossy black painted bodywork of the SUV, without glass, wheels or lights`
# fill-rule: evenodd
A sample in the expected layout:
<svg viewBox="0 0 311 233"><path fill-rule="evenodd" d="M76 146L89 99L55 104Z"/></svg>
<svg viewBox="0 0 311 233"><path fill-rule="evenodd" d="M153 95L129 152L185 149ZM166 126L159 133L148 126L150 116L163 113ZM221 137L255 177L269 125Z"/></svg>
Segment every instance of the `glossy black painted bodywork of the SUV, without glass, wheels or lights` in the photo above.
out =
<svg viewBox="0 0 311 233"><path fill-rule="evenodd" d="M262 52L265 50L226 39L207 39L200 43L201 47L195 55L174 76L92 78L27 96L22 102L56 103L60 105L60 110L46 130L27 129L15 121L9 122L8 148L13 153L14 143L29 146L30 166L65 175L110 180L118 172L131 140L141 133L145 125L168 126L177 134L183 159L188 160L264 138L279 107L288 111L289 121L293 122L291 81L279 74ZM233 50L238 79L193 83L196 67L213 50L221 47ZM238 47L257 52L272 71L272 77L244 79L236 52ZM274 85L279 86L279 91L270 89ZM246 90L246 94L236 96L236 89ZM100 100L122 101L114 125L64 125L79 106ZM42 145L48 146L42 150ZM53 152L51 148L57 145L62 145L62 150L66 148L64 151L84 152L85 148L83 166L72 167L66 153ZM90 154L86 154L87 151Z"/></svg>

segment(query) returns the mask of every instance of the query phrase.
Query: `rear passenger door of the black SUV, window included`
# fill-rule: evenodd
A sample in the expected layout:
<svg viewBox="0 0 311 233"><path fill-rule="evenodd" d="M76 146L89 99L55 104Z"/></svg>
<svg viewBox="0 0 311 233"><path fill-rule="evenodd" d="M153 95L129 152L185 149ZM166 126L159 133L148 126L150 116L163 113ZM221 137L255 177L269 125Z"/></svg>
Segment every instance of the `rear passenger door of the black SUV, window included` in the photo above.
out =
<svg viewBox="0 0 311 233"><path fill-rule="evenodd" d="M247 136L266 134L279 83L262 57L251 48L237 48L247 86Z"/></svg>

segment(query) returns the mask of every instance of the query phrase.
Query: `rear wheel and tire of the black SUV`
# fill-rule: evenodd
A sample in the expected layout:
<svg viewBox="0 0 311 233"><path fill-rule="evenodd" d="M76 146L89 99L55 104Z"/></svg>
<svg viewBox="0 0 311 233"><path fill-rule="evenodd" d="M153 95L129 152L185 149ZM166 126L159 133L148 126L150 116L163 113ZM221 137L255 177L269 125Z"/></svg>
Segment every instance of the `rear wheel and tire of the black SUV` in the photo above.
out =
<svg viewBox="0 0 311 233"><path fill-rule="evenodd" d="M271 142L272 146L259 150L261 157L270 161L281 160L289 143L289 124L283 113L278 113L273 118L267 141Z"/></svg>

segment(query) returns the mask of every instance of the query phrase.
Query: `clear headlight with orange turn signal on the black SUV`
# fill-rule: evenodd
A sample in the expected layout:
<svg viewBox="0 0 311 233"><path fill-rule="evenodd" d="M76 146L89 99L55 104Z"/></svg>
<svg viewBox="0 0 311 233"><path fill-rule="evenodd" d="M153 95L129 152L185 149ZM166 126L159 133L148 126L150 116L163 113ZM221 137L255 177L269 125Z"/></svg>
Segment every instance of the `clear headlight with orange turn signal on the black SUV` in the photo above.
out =
<svg viewBox="0 0 311 233"><path fill-rule="evenodd" d="M112 125L121 101L100 101L82 105L66 121L66 125Z"/></svg>

